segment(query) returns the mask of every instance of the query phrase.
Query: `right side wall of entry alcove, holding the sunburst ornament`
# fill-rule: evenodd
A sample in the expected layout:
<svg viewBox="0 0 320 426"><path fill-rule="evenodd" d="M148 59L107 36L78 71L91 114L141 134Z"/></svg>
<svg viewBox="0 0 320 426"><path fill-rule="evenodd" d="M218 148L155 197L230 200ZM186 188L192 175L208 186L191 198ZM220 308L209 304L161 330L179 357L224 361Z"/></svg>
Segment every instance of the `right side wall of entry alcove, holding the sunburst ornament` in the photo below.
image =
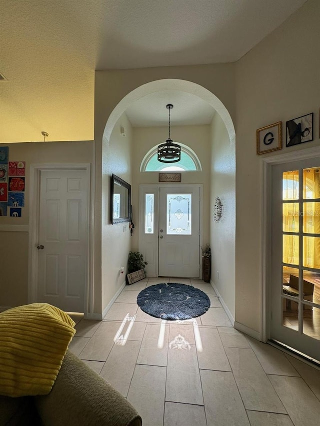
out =
<svg viewBox="0 0 320 426"><path fill-rule="evenodd" d="M210 245L211 281L234 318L235 309L235 145L225 125L214 114L211 128ZM219 197L223 205L219 222L213 221L213 205Z"/></svg>

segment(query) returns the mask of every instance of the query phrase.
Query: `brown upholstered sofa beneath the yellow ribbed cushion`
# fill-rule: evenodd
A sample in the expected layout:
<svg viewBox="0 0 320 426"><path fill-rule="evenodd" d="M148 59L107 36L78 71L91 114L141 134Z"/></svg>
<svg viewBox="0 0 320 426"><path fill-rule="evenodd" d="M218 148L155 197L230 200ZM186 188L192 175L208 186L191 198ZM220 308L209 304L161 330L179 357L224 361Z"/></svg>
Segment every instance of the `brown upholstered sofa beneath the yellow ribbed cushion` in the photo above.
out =
<svg viewBox="0 0 320 426"><path fill-rule="evenodd" d="M141 426L135 409L67 351L47 395L0 396L0 426Z"/></svg>

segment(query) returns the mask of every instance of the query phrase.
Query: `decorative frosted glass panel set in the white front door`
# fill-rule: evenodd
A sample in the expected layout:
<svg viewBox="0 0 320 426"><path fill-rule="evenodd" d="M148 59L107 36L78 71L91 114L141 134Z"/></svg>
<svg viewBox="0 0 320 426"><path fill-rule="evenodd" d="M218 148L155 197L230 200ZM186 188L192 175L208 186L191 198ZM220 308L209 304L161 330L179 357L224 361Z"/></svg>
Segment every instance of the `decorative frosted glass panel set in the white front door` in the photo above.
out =
<svg viewBox="0 0 320 426"><path fill-rule="evenodd" d="M191 235L191 194L167 194L166 217L168 235Z"/></svg>

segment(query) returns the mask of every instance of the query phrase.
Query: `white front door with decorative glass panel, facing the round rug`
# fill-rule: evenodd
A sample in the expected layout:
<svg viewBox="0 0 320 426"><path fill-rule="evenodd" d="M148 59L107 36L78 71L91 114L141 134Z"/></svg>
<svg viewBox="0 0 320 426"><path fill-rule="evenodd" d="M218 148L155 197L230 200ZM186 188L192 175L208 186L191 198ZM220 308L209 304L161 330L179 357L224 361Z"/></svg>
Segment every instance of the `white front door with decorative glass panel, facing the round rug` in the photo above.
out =
<svg viewBox="0 0 320 426"><path fill-rule="evenodd" d="M200 188L159 188L158 275L199 277Z"/></svg>

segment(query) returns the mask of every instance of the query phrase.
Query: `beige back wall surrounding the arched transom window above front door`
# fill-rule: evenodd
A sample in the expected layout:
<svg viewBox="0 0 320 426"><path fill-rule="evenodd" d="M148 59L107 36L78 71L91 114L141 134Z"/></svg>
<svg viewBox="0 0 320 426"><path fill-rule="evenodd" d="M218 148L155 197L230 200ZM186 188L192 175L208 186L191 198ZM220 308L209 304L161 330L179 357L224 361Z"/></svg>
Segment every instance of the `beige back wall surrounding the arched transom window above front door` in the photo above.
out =
<svg viewBox="0 0 320 426"><path fill-rule="evenodd" d="M209 125L203 126L171 126L171 137L174 142L183 143L190 147L200 160L201 172L181 172L182 184L203 184L203 241L209 242L209 179L210 179L210 139ZM156 144L164 142L167 138L167 127L136 127L133 128L133 154L132 154L132 208L133 222L135 225L132 236L132 248L138 249L138 232L139 232L139 185L141 184L157 184L158 172L140 172L140 164L144 155ZM177 184L178 185L178 184Z"/></svg>

